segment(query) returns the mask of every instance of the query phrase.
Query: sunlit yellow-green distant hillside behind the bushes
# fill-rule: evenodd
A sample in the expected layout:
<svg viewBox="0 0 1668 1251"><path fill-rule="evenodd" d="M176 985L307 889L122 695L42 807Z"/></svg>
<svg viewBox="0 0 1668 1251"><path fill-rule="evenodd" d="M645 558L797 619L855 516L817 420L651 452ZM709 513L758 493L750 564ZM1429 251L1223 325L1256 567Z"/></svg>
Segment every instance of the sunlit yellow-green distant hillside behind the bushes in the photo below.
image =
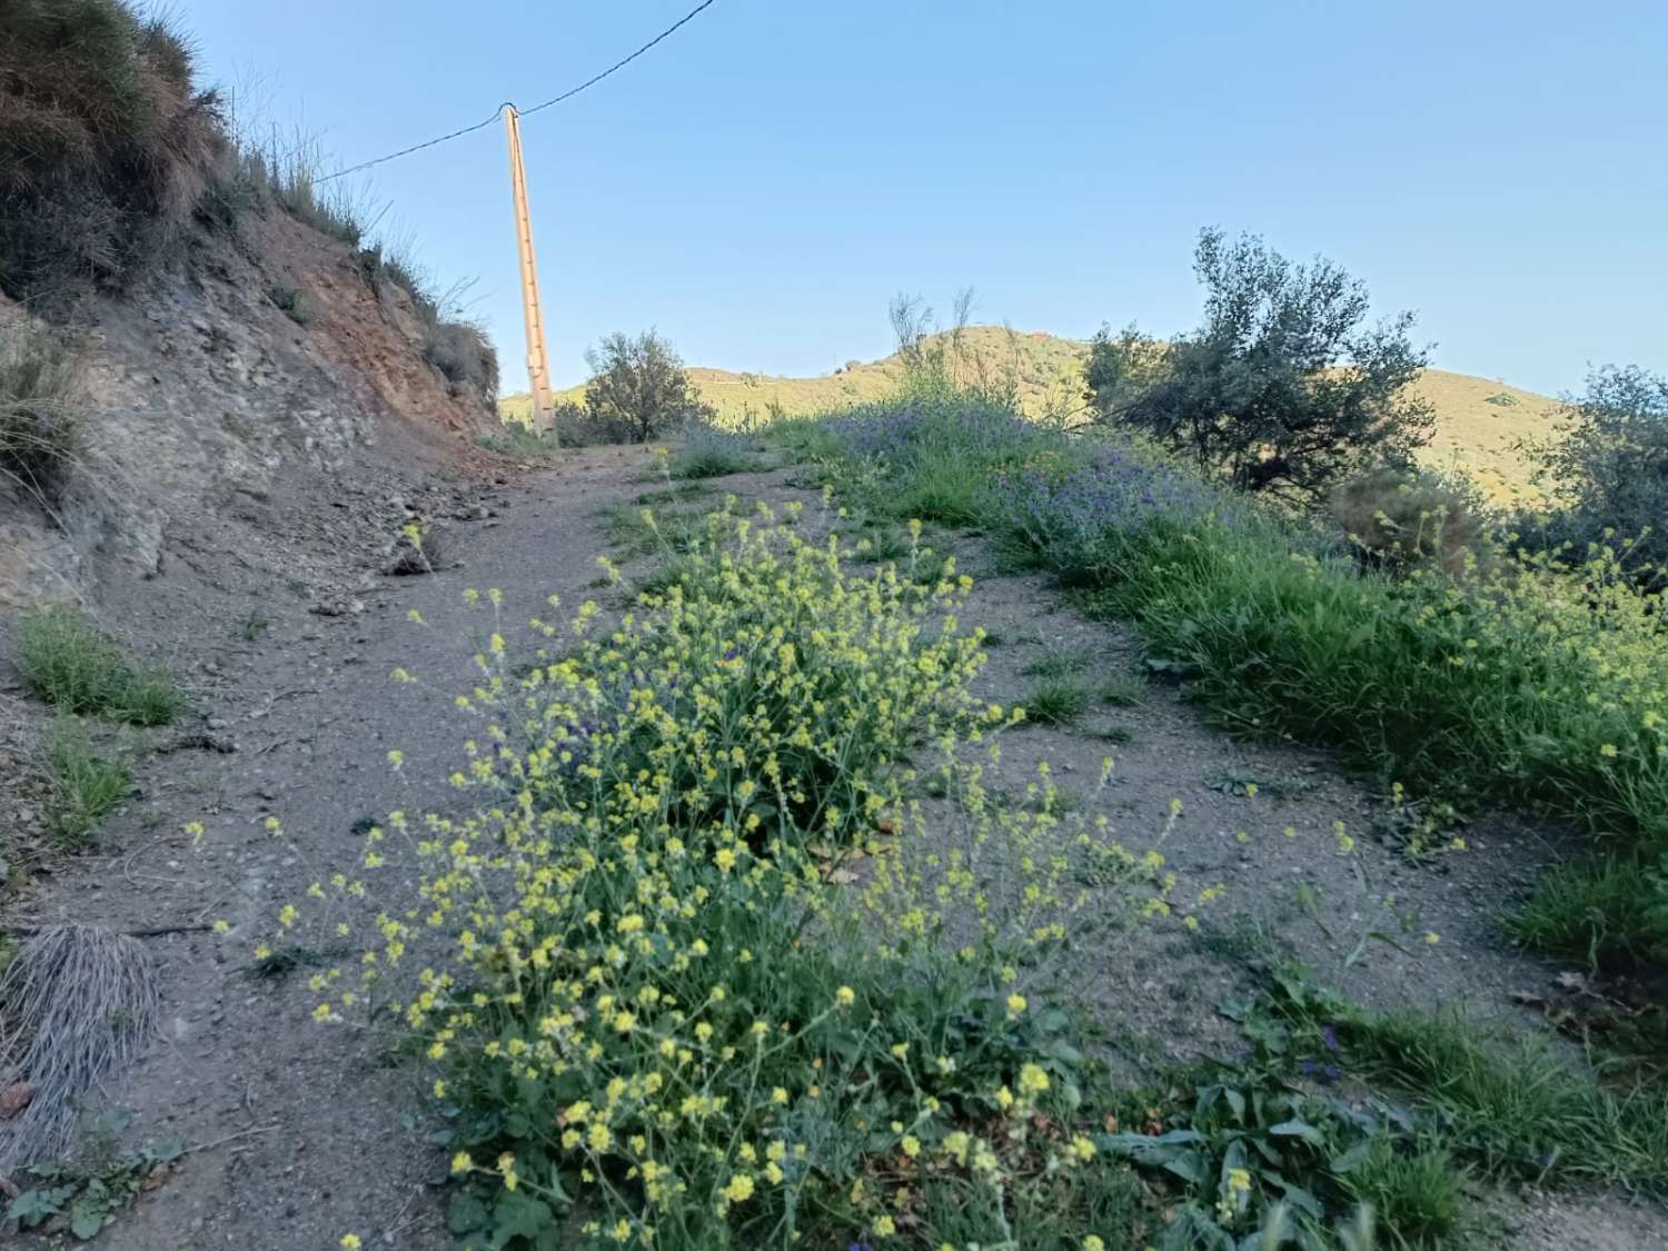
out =
<svg viewBox="0 0 1668 1251"><path fill-rule="evenodd" d="M1081 339L1059 339L1036 332L1012 332L994 325L962 332L966 354L992 377L1012 370L1019 379L1021 404L1031 415L1074 412L1083 407L1083 362L1089 345ZM851 362L834 374L814 379L786 379L771 374L732 374L726 369L689 370L702 399L726 424L749 414L766 417L772 409L789 415L822 412L847 404L884 397L902 374L897 355L884 360ZM1436 437L1423 459L1434 467L1470 472L1500 500L1533 497L1530 464L1513 450L1525 435L1543 434L1558 400L1503 382L1426 370L1414 384L1436 409ZM584 384L557 394L557 400L584 400ZM532 400L507 395L499 400L505 420L525 420Z"/></svg>

